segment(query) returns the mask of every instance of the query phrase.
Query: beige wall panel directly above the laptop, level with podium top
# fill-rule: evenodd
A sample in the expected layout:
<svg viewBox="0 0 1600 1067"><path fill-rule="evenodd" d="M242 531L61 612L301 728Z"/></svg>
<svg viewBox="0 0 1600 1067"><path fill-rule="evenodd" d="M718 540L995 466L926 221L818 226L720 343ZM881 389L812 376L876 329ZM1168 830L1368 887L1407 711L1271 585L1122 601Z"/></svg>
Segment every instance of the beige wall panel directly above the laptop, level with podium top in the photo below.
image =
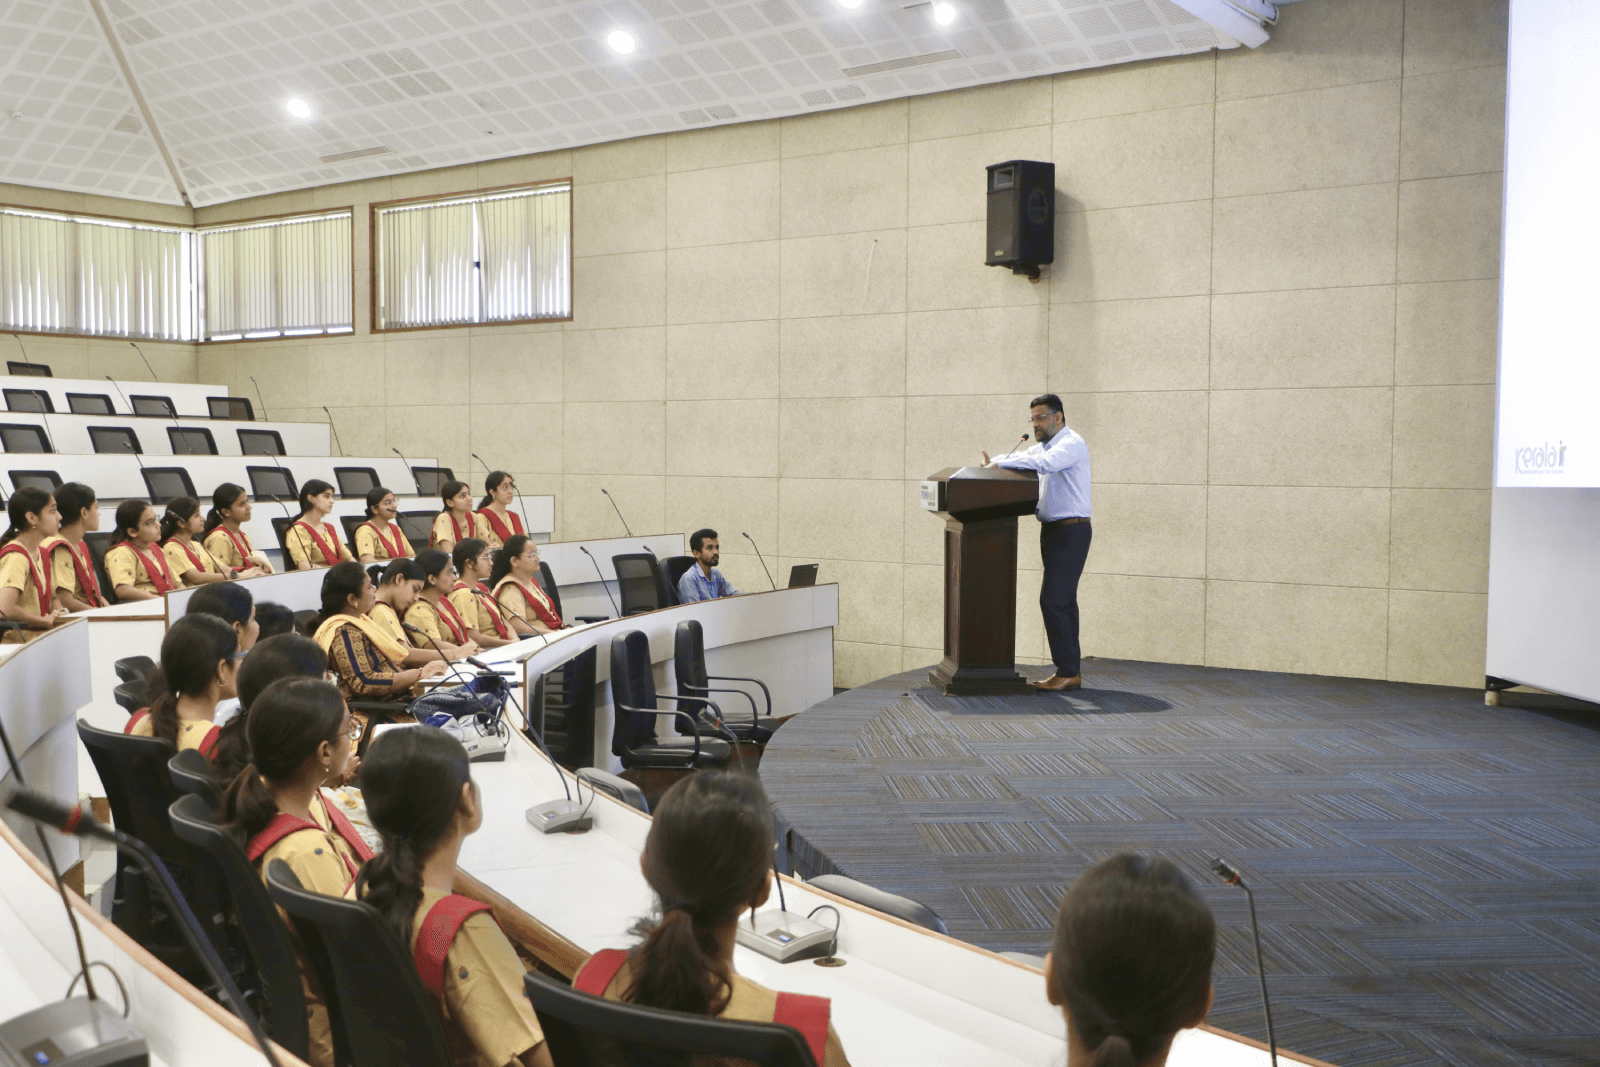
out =
<svg viewBox="0 0 1600 1067"><path fill-rule="evenodd" d="M784 478L778 552L813 560L901 561L902 482ZM763 545L763 552L768 550Z"/></svg>

